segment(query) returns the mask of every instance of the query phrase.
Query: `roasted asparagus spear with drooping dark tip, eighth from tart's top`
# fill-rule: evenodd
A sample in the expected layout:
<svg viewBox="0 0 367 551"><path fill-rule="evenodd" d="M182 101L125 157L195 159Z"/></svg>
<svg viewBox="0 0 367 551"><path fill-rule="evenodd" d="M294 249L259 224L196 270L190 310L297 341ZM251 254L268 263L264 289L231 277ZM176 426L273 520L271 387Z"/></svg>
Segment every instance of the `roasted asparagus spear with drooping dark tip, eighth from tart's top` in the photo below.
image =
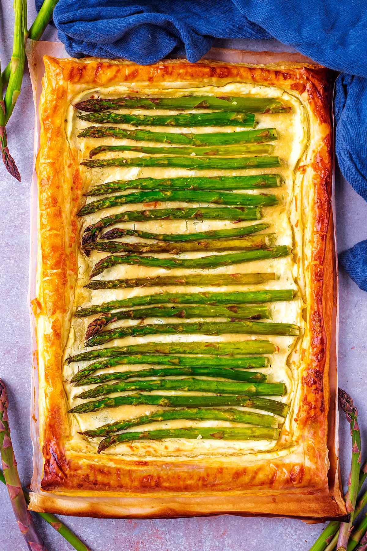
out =
<svg viewBox="0 0 367 551"><path fill-rule="evenodd" d="M144 220L231 220L234 223L243 220L259 220L261 218L260 207L240 208L165 208L130 210L127 212L112 214L98 220L96 224L87 226L84 230L83 245L95 241L98 234L109 226L120 222L143 222Z"/></svg>

